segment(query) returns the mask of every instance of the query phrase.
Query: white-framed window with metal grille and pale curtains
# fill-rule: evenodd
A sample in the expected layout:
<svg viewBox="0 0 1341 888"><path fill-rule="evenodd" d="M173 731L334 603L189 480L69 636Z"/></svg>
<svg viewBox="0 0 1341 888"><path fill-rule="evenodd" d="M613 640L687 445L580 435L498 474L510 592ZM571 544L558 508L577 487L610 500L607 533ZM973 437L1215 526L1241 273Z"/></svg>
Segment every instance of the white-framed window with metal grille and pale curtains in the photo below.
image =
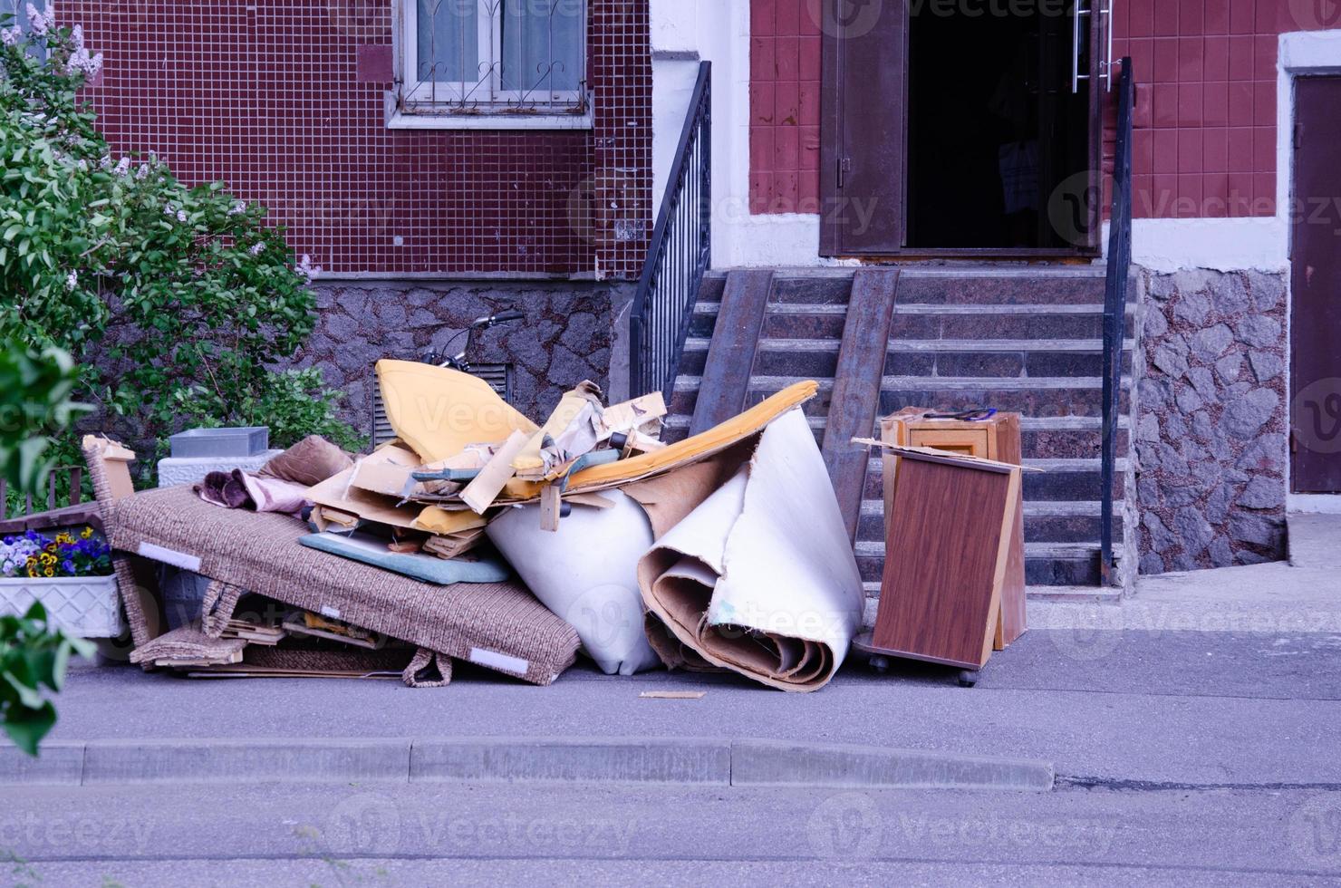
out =
<svg viewBox="0 0 1341 888"><path fill-rule="evenodd" d="M402 111L586 111L586 0L401 3Z"/></svg>

